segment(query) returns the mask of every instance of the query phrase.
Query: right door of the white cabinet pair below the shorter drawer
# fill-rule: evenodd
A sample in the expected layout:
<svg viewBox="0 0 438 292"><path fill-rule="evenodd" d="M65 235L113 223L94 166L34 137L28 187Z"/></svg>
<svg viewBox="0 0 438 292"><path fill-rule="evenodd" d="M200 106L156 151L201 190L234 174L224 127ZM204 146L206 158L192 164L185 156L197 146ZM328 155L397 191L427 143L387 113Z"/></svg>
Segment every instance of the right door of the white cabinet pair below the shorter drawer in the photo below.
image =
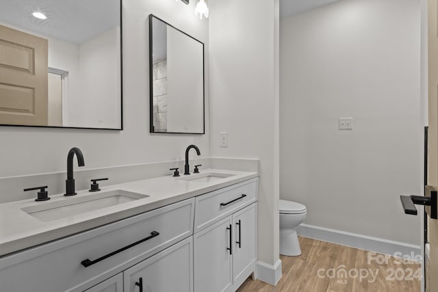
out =
<svg viewBox="0 0 438 292"><path fill-rule="evenodd" d="M233 214L233 285L237 289L255 271L257 203Z"/></svg>

